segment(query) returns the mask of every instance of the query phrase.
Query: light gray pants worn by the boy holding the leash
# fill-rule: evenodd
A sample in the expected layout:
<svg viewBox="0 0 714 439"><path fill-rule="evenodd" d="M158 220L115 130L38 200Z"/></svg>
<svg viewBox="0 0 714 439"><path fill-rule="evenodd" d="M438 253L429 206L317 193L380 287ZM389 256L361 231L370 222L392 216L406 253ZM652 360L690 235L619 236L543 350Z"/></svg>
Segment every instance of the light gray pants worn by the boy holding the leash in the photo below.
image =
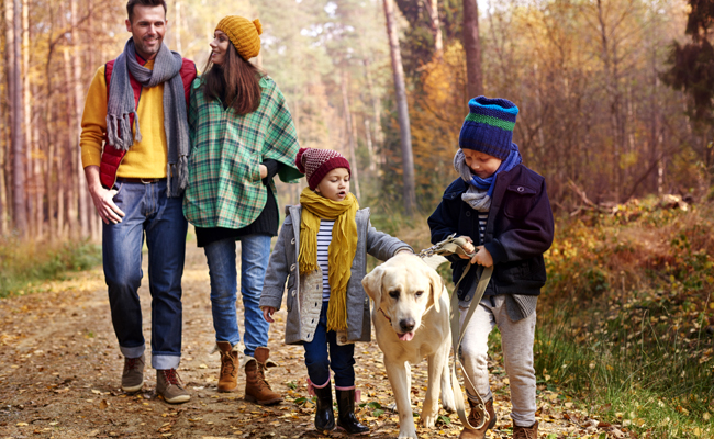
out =
<svg viewBox="0 0 714 439"><path fill-rule="evenodd" d="M459 306L459 309L460 325L464 325L468 308ZM486 402L493 396L489 385L489 334L495 325L499 326L505 372L511 385L511 418L520 427L529 427L536 420L536 378L533 368L535 324L535 312L522 320L512 322L506 313L504 296L483 297L473 312L461 341L464 370L476 386L475 390L469 380L465 380L466 389L471 395L476 395L478 390Z"/></svg>

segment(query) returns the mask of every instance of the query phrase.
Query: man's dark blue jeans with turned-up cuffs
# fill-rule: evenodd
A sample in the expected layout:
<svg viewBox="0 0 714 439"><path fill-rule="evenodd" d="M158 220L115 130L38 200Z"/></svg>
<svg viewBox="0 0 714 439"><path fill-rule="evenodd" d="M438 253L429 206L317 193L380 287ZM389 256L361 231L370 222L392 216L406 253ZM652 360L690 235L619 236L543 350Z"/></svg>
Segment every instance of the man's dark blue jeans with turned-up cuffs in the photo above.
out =
<svg viewBox="0 0 714 439"><path fill-rule="evenodd" d="M181 360L181 275L188 223L182 198L166 196L166 181L118 183L114 203L126 216L102 228L104 277L114 333L122 354L144 353L138 286L144 237L152 294L152 365L176 369Z"/></svg>

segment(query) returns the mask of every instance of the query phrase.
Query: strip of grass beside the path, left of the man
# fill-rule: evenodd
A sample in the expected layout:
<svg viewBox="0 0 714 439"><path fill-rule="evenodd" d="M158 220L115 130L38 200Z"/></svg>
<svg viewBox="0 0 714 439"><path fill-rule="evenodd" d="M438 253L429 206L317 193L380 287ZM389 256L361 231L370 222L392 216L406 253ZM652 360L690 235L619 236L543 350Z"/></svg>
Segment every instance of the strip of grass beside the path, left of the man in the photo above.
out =
<svg viewBox="0 0 714 439"><path fill-rule="evenodd" d="M101 246L88 241L47 243L0 239L0 297L41 291L48 280L101 263Z"/></svg>

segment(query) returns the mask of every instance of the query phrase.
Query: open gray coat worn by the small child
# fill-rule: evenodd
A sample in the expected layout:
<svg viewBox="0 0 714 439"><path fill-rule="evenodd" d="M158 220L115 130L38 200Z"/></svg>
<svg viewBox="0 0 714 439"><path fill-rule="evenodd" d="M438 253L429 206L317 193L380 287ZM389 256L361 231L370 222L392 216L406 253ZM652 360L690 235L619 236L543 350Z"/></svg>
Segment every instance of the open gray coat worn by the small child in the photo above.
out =
<svg viewBox="0 0 714 439"><path fill-rule="evenodd" d="M280 309L282 294L287 290L286 344L301 345L312 341L320 309L322 308L322 271L300 274L298 255L300 254L301 206L287 206L278 241L270 254L270 262L263 284L260 307L271 306ZM361 280L367 274L367 254L387 260L398 250L412 249L408 244L378 232L369 222L369 209L357 211L357 251L352 264L352 277L347 284L347 330L337 335L338 344L370 341L371 322L369 297L365 294ZM287 288L286 288L287 282Z"/></svg>

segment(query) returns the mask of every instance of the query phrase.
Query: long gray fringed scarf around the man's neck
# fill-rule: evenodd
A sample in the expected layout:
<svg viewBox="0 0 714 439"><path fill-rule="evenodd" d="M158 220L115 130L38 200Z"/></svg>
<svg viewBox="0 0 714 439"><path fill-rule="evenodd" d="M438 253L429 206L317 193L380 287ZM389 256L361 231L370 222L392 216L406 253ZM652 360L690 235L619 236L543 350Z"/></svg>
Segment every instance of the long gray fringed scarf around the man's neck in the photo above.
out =
<svg viewBox="0 0 714 439"><path fill-rule="evenodd" d="M107 139L116 149L127 151L134 142L142 140L134 91L129 78L130 72L138 83L146 88L165 82L164 130L168 145L166 170L168 196L180 196L188 183L190 145L183 81L179 75L181 66L181 55L169 50L165 44L161 44L154 60L154 70L147 69L136 60L134 40L129 38L124 52L114 61L107 103ZM134 114L136 136L132 135L132 126L129 123L130 114Z"/></svg>

